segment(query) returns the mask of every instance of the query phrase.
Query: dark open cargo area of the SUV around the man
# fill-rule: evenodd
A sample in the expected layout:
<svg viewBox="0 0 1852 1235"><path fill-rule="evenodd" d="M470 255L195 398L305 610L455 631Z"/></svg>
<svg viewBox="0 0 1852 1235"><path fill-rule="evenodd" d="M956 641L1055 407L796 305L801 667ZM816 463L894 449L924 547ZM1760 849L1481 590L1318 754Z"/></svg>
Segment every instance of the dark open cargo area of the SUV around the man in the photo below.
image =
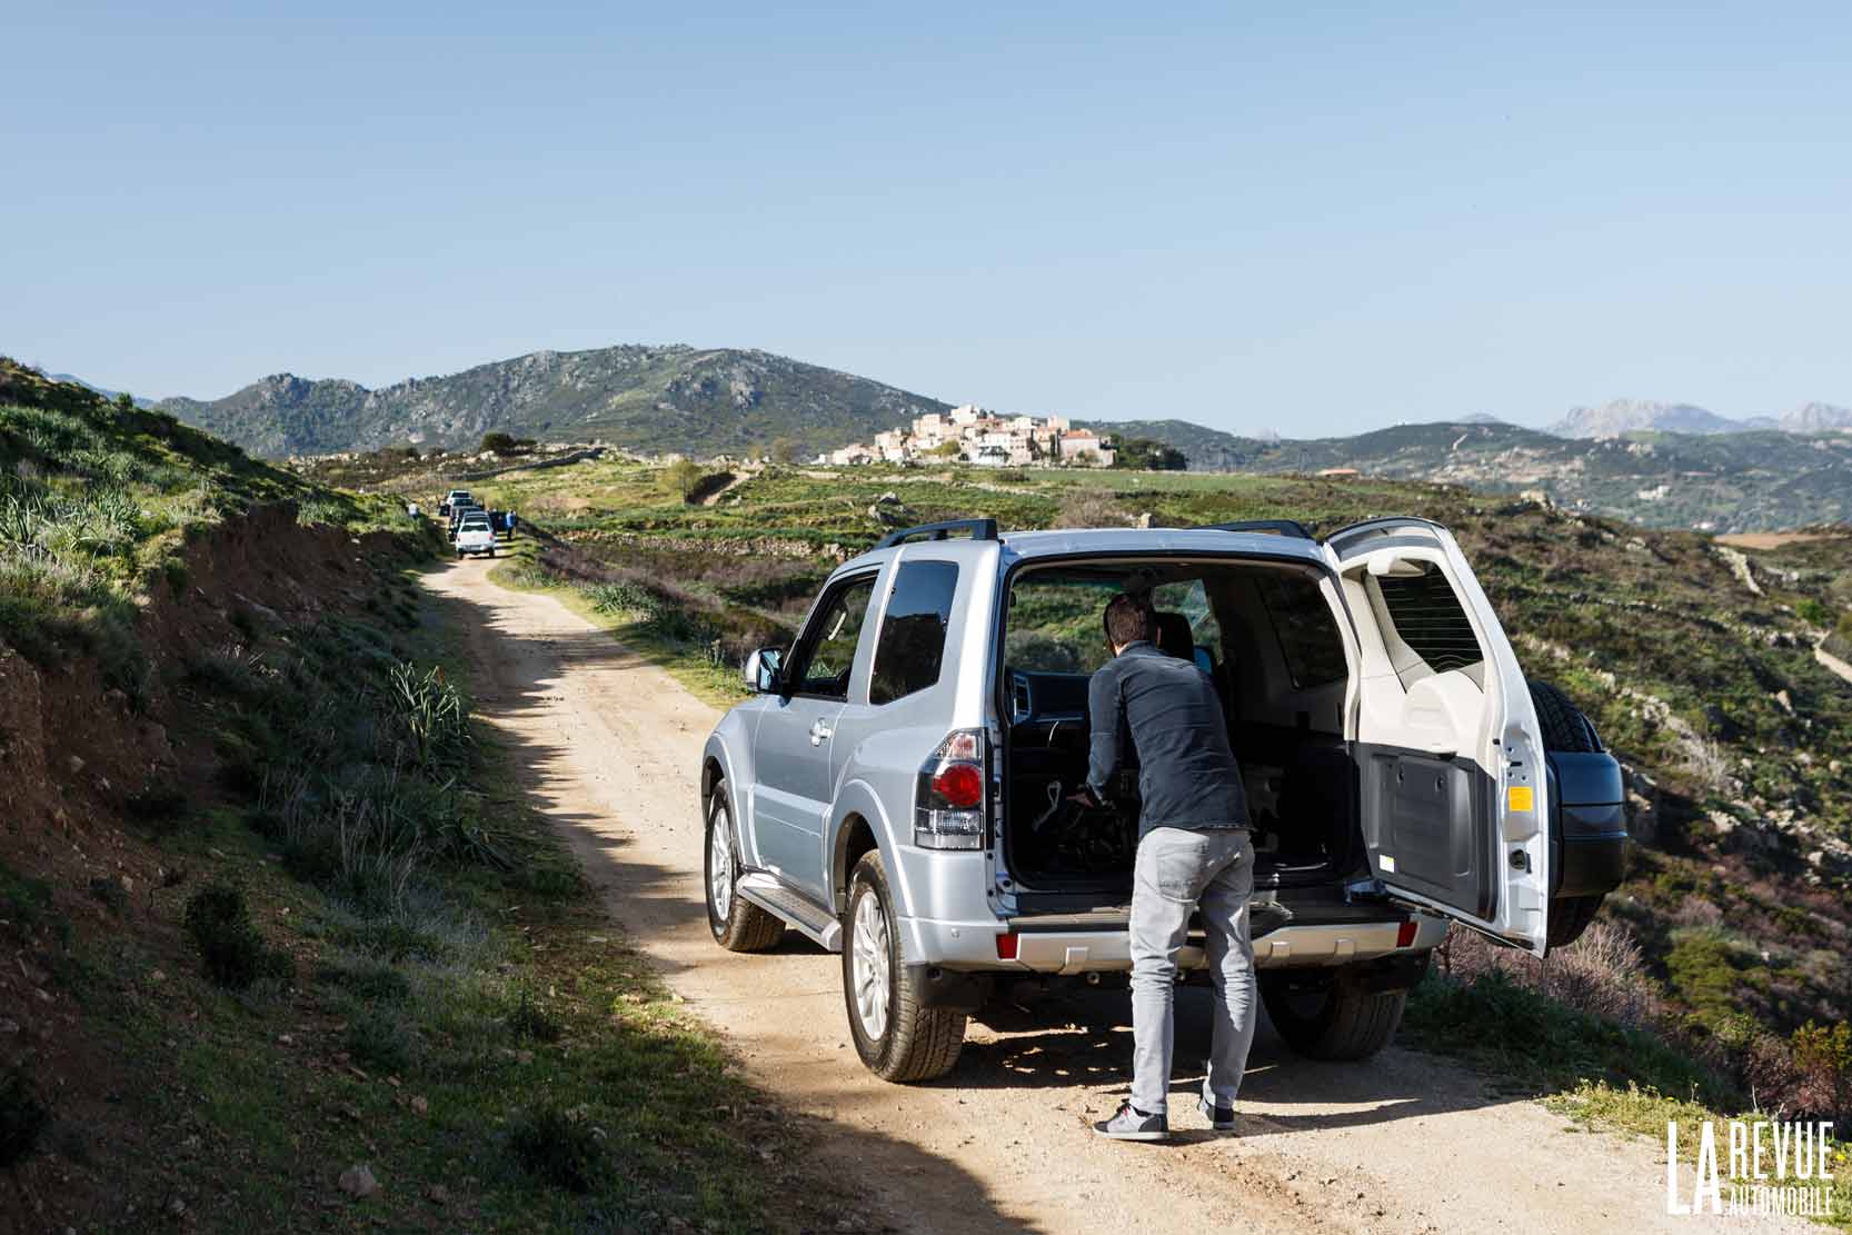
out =
<svg viewBox="0 0 1852 1235"><path fill-rule="evenodd" d="M1087 780L1087 683L1111 650L1102 613L1145 591L1159 650L1215 683L1254 818L1256 883L1319 883L1359 852L1356 765L1343 737L1348 665L1315 568L1252 559L1059 563L1017 572L1004 633L1004 867L1022 892L1124 904L1137 842L1137 752L1111 804L1067 802Z"/></svg>

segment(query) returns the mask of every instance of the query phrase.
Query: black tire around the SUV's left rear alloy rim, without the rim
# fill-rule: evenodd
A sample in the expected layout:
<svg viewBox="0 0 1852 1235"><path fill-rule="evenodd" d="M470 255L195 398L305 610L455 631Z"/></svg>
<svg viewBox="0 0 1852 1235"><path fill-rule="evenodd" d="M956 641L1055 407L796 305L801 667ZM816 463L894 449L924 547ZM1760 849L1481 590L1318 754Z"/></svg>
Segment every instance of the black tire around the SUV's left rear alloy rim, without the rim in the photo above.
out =
<svg viewBox="0 0 1852 1235"><path fill-rule="evenodd" d="M861 902L874 902L887 924L887 1000L885 1024L872 1035L856 1005L857 979L857 913ZM848 913L843 922L843 1005L848 1011L848 1033L856 1039L856 1054L883 1081L930 1081L945 1076L957 1063L965 1046L969 1015L950 1007L926 1007L915 979L909 976L900 950L900 931L893 928L895 898L887 885L887 867L880 850L869 850L856 863L848 879Z"/></svg>

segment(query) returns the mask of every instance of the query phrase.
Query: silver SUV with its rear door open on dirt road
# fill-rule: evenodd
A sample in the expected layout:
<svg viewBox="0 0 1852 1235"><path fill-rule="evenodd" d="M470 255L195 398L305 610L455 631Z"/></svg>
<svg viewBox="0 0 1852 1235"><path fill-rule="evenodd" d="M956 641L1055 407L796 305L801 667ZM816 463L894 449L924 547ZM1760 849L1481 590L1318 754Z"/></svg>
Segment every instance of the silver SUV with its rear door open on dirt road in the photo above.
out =
<svg viewBox="0 0 1852 1235"><path fill-rule="evenodd" d="M957 1059L993 996L1122 981L1137 772L1087 770L1087 680L1119 591L1228 709L1254 815L1254 955L1274 1028L1359 1059L1448 920L1543 955L1620 879L1619 765L1528 683L1454 537L1378 518L1024 531L956 520L837 568L702 755L707 922L843 954L850 1033L895 1081ZM1182 967L1200 968L1200 935Z"/></svg>

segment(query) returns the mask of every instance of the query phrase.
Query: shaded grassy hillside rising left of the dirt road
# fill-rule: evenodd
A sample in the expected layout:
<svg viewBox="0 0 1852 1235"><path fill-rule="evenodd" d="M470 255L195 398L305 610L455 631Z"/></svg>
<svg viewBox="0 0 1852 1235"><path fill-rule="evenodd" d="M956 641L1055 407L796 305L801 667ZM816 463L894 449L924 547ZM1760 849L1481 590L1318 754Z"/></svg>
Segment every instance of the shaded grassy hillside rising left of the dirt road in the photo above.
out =
<svg viewBox="0 0 1852 1235"><path fill-rule="evenodd" d="M274 500L350 531L400 520L17 367L0 463L0 500L33 505L0 541L0 639L143 676L139 602L220 520ZM39 983L0 1042L0 1226L811 1222L830 1187L774 1165L798 1157L785 1116L609 926L469 720L443 615L413 576L344 576L352 600L311 618L228 624L204 600L156 692L185 778L122 785L120 818L59 811L59 844L37 818L0 837L0 942ZM448 680L417 700L394 687L433 665ZM250 985L209 979L189 939L217 885L270 957ZM380 1185L365 1200L337 1187L357 1163Z"/></svg>

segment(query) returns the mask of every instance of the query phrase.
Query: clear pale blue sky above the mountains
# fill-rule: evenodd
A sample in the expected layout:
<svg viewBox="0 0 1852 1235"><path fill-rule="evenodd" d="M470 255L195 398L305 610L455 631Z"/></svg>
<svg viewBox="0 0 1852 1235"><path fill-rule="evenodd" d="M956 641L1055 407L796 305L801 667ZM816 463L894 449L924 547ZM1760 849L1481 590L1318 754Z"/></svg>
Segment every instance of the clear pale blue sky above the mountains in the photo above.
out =
<svg viewBox="0 0 1852 1235"><path fill-rule="evenodd" d="M759 346L1291 437L1852 404L1845 6L9 4L0 352Z"/></svg>

